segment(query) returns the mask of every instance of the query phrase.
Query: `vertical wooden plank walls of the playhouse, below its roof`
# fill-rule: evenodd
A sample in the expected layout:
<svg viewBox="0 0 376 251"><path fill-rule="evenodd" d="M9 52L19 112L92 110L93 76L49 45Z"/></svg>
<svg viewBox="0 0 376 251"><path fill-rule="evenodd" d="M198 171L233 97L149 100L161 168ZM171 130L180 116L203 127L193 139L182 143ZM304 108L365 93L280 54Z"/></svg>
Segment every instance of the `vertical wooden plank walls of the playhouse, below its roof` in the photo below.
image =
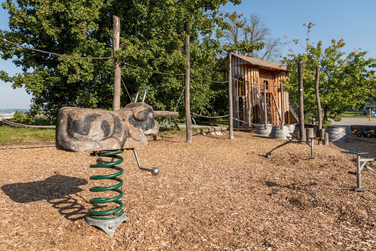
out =
<svg viewBox="0 0 376 251"><path fill-rule="evenodd" d="M281 79L285 79L286 76L281 75L280 70L274 70L274 69L267 69L265 67L260 67L258 65L251 65L247 61L238 58L234 55L232 55L232 76L234 79L237 79L238 76L243 76L243 80L245 82L249 81L250 82L250 90L251 90L251 105L252 107L255 105L259 105L260 108L260 120L262 123L264 123L265 118L264 118L264 104L262 102L262 92L263 90L263 83L264 80L268 81L268 90L267 90L267 96L269 95L270 101L274 102L272 104L269 104L271 109L271 113L268 115L270 122L273 123L273 125L280 125L280 117L278 110L276 106L278 105L279 110L281 111L281 100L280 100L280 92L278 92L279 88L279 83ZM238 93L239 88L236 90L236 81L232 80L232 91L233 91L233 96ZM273 99L274 94L275 100ZM243 94L243 93L241 93ZM239 99L237 97L233 98L233 114L234 118L240 119L243 121L247 121L247 114L248 114L248 109L251 109L251 114L252 114L252 107L248 107L248 102L247 102L247 97L248 97L248 90L247 90L247 85L245 84L245 95L243 96L243 117L239 117ZM288 111L288 93L285 92L284 94L284 103L285 103L285 111ZM252 115L251 115L252 116ZM252 117L251 117L251 123L253 123ZM289 123L289 117L285 117L285 123ZM236 120L233 121L233 127L234 128L242 128L246 127L246 124L243 124L243 126L240 125L239 122Z"/></svg>

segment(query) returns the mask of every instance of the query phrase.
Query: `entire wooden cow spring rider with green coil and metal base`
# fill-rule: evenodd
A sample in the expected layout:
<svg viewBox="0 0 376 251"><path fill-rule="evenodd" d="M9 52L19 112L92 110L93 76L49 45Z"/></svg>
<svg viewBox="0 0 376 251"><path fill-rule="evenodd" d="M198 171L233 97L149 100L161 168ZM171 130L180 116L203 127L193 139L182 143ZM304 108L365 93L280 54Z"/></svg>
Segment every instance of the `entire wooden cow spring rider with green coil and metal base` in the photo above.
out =
<svg viewBox="0 0 376 251"><path fill-rule="evenodd" d="M142 102L136 102L138 94L144 90ZM113 198L92 198L89 202L94 205L88 210L86 222L101 228L112 236L118 226L127 221L123 210L123 191L120 187L124 184L120 175L124 170L117 166L123 162L123 149L132 150L139 169L158 175L159 169L147 169L141 167L137 152L134 148L147 145L147 134L156 134L159 124L154 117L177 117L178 113L155 111L150 105L144 103L146 90L143 88L136 94L135 102L129 103L118 111L106 111L102 109L85 109L64 107L60 110L56 120L56 148L70 152L94 152L97 157L96 164L91 168L107 168L115 173L109 175L93 175L90 180L112 180L118 183L113 186L91 187L91 192L116 192ZM165 113L166 114L165 116ZM120 150L118 150L120 149ZM109 161L103 160L108 158ZM118 207L102 210L103 207L118 204ZM111 204L111 207L112 207Z"/></svg>

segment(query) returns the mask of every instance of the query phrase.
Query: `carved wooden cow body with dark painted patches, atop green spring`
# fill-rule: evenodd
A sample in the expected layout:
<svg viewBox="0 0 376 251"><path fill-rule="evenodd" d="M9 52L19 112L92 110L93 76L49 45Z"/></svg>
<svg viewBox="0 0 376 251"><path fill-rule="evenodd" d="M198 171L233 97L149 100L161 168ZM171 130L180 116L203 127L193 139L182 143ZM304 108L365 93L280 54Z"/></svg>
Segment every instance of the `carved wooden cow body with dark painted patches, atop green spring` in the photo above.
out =
<svg viewBox="0 0 376 251"><path fill-rule="evenodd" d="M152 106L142 102L118 111L64 107L56 121L56 148L85 152L146 146L145 135L159 130L154 117Z"/></svg>

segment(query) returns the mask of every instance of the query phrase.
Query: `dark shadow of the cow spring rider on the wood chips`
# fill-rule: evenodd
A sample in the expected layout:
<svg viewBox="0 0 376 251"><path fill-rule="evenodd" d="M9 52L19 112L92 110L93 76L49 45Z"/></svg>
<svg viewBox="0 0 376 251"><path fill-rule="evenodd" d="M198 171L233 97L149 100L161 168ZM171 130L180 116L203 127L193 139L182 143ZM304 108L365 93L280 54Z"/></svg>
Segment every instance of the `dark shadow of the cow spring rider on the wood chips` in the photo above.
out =
<svg viewBox="0 0 376 251"><path fill-rule="evenodd" d="M77 193L83 191L79 186L87 183L82 178L57 174L41 181L6 184L1 189L9 198L18 203L45 199L52 204L53 208L58 209L59 213L66 219L77 221L85 218L85 207L71 195L76 195L86 201Z"/></svg>

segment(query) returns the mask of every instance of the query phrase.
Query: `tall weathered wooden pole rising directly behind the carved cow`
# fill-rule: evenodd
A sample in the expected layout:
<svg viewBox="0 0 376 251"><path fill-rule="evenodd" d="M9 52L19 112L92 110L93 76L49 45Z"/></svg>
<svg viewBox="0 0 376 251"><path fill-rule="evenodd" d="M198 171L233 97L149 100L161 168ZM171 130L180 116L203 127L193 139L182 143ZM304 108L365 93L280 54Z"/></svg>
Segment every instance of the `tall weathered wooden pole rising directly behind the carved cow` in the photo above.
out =
<svg viewBox="0 0 376 251"><path fill-rule="evenodd" d="M114 33L112 35L112 53L115 55L120 46L120 18L112 16L114 22ZM114 99L112 100L112 110L120 109L120 63L117 58L114 58Z"/></svg>

